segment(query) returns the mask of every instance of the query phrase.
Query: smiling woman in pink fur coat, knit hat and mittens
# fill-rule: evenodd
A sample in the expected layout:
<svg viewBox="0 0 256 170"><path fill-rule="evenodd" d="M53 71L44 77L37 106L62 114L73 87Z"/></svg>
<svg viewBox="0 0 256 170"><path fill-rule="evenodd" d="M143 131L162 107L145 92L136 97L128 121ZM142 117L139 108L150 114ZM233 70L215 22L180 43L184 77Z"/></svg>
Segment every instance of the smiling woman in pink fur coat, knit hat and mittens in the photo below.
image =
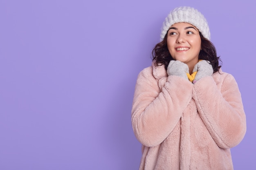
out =
<svg viewBox="0 0 256 170"><path fill-rule="evenodd" d="M176 8L160 37L132 103L132 128L142 144L139 169L233 170L230 148L243 139L246 118L206 19L191 7Z"/></svg>

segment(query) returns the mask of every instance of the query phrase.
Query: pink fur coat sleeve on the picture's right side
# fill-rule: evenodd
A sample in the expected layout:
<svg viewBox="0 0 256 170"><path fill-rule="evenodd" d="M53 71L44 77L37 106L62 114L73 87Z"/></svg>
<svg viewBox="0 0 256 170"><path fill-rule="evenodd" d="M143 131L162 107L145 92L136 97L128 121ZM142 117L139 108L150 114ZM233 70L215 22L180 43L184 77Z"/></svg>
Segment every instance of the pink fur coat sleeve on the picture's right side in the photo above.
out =
<svg viewBox="0 0 256 170"><path fill-rule="evenodd" d="M198 113L220 148L232 148L242 141L246 132L243 103L234 77L225 78L218 88L213 77L207 76L194 84L192 97Z"/></svg>

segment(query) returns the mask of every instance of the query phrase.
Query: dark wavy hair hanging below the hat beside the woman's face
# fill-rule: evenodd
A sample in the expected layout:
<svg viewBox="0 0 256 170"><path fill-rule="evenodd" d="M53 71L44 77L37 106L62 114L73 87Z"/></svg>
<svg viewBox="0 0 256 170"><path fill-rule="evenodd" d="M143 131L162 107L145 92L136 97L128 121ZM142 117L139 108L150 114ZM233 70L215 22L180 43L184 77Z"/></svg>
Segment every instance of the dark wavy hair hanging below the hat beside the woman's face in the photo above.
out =
<svg viewBox="0 0 256 170"><path fill-rule="evenodd" d="M213 73L219 71L219 61L220 57L217 56L216 48L215 46L206 38L203 37L203 35L199 32L200 38L201 38L201 48L202 50L199 53L199 60L208 60L212 67L213 67ZM171 54L168 51L167 48L167 33L164 36L164 40L162 42L159 42L155 45L155 48L152 51L152 61L155 62L155 66L162 66L164 65L165 70L167 70L168 64L171 60L174 60Z"/></svg>

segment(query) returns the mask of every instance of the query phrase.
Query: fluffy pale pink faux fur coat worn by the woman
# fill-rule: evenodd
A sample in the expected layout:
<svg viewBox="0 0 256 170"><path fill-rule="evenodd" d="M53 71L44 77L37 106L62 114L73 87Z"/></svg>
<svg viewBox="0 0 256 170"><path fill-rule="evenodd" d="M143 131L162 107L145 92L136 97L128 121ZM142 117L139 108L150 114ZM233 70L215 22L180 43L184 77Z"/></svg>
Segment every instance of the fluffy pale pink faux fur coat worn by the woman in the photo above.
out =
<svg viewBox="0 0 256 170"><path fill-rule="evenodd" d="M192 84L152 64L137 78L132 128L139 170L233 170L230 148L246 132L236 80L220 69Z"/></svg>

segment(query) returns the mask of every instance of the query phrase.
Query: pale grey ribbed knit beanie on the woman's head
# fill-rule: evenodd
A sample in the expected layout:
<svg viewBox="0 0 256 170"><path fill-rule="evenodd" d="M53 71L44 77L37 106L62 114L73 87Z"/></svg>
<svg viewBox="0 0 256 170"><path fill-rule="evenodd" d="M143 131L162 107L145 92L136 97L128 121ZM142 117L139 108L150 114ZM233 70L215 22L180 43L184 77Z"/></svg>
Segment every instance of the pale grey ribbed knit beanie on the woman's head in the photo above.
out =
<svg viewBox="0 0 256 170"><path fill-rule="evenodd" d="M179 22L192 24L202 33L204 38L210 40L210 30L204 15L192 7L177 7L165 18L160 35L160 41L164 40L164 36L170 26Z"/></svg>

